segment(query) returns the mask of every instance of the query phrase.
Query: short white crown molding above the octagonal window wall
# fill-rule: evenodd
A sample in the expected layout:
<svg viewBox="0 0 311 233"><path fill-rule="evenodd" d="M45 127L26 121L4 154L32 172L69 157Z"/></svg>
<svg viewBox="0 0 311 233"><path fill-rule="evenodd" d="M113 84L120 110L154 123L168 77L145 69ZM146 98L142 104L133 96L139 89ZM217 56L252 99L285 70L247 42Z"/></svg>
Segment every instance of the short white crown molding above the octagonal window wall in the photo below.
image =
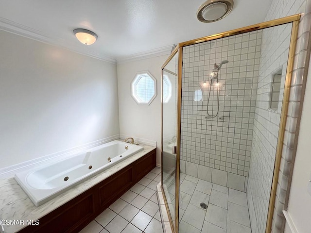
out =
<svg viewBox="0 0 311 233"><path fill-rule="evenodd" d="M172 50L172 45L161 47L154 50L148 50L143 52L134 53L127 56L117 57L117 64L126 63L126 62L133 62L142 59L158 57L163 55L170 55Z"/></svg>

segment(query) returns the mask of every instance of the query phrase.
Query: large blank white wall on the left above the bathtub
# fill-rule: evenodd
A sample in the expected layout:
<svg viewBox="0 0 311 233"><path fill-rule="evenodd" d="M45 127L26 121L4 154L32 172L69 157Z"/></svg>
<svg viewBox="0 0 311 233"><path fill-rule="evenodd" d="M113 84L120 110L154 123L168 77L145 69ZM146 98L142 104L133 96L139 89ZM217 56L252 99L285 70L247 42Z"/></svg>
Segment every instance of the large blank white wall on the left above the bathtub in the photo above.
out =
<svg viewBox="0 0 311 233"><path fill-rule="evenodd" d="M0 31L0 168L119 134L115 64Z"/></svg>

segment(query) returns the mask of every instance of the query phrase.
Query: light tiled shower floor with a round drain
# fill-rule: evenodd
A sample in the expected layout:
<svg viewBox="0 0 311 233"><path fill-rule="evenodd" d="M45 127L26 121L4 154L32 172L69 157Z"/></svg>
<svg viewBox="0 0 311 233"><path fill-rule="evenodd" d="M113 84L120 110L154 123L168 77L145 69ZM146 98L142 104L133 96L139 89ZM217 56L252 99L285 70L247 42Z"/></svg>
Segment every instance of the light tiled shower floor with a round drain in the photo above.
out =
<svg viewBox="0 0 311 233"><path fill-rule="evenodd" d="M181 173L179 199L179 233L251 233L244 192Z"/></svg>

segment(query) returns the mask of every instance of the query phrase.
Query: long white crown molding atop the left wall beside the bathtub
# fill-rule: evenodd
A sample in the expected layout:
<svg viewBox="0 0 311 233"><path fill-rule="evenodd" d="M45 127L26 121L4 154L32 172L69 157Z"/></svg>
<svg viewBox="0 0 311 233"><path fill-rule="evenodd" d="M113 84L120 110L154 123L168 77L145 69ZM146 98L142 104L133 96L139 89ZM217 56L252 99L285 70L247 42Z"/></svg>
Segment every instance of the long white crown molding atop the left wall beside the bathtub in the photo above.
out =
<svg viewBox="0 0 311 233"><path fill-rule="evenodd" d="M43 42L46 44L54 45L54 46L59 46L62 47L63 49L70 50L82 55L86 55L92 58L96 58L105 62L113 63L116 64L117 61L115 58L100 54L94 50L90 50L88 48L87 51L82 51L79 48L75 47L73 44L70 44L68 46L68 43L65 42L65 40L61 38L55 38L55 36L50 36L46 33L43 33L39 30L36 30L31 27L27 27L25 25L19 24L17 22L8 20L6 18L0 17L0 30L9 32L9 33L14 33L23 37L27 37L30 39L34 39L39 42Z"/></svg>

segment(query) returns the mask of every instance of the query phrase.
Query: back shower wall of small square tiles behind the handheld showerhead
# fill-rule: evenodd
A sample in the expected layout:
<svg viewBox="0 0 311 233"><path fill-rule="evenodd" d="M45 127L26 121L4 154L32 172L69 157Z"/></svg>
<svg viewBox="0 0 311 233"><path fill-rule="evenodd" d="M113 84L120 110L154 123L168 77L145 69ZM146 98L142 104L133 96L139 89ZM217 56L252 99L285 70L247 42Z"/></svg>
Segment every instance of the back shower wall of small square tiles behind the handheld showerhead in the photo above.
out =
<svg viewBox="0 0 311 233"><path fill-rule="evenodd" d="M210 171L211 180L215 177L220 181L213 182L225 186L234 183L233 180L244 182L248 177L261 34L261 31L244 33L184 48L182 172L198 177L206 168L205 176ZM224 64L218 74L219 116L206 118L210 73L214 63L223 60L229 63ZM217 113L217 88L211 87L209 115ZM195 93L200 90L203 101L195 101ZM244 185L241 189L244 191Z"/></svg>

